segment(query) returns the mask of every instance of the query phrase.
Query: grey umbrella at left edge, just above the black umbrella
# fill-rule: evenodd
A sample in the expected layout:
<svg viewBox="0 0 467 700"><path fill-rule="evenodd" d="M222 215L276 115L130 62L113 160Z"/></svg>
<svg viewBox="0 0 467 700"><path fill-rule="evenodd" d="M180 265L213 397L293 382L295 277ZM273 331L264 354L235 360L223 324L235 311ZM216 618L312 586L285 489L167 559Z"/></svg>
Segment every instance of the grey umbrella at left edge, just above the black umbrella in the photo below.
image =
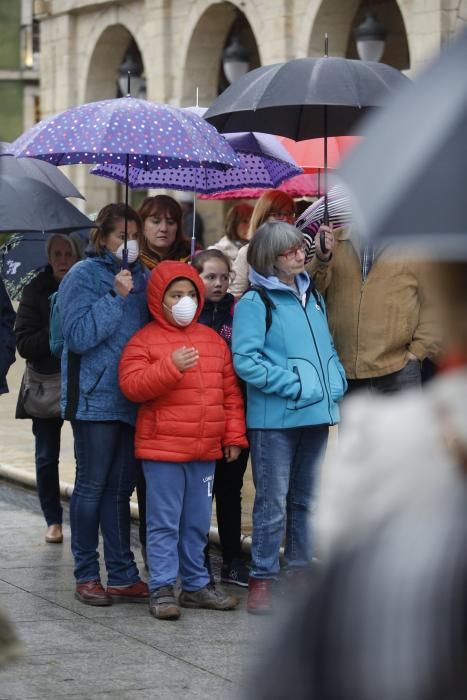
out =
<svg viewBox="0 0 467 700"><path fill-rule="evenodd" d="M74 184L52 163L37 158L15 158L10 152L10 145L0 141L0 175L13 177L32 177L49 185L62 197L79 197L84 199Z"/></svg>

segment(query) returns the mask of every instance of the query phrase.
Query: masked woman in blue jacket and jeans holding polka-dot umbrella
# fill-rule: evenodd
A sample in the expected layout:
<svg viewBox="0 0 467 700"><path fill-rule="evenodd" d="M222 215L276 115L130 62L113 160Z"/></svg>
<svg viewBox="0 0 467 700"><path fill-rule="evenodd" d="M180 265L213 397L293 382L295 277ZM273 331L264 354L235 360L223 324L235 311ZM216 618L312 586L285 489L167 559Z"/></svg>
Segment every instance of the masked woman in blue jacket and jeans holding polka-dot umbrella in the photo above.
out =
<svg viewBox="0 0 467 700"><path fill-rule="evenodd" d="M131 208L126 215L129 269L122 270L125 205L109 204L96 219L87 258L70 270L58 294L62 414L71 421L77 461L70 503L75 597L88 605L148 601L130 549L137 406L118 385L123 347L148 321L146 280L133 240L141 219ZM100 581L99 527L107 589Z"/></svg>

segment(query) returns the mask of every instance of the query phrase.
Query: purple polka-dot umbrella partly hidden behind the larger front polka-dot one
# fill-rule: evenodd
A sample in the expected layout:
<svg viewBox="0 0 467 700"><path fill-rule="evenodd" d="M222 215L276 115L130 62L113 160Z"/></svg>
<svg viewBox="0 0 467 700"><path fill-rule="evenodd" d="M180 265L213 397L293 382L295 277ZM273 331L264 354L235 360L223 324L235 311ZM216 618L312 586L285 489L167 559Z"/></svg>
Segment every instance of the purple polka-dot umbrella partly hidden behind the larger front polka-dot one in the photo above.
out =
<svg viewBox="0 0 467 700"><path fill-rule="evenodd" d="M133 188L167 187L201 194L214 194L243 187L277 187L302 169L275 136L245 132L226 134L226 141L238 154L240 168L219 168L203 165L200 168L129 167L128 184ZM103 163L92 168L93 175L125 182L125 166Z"/></svg>

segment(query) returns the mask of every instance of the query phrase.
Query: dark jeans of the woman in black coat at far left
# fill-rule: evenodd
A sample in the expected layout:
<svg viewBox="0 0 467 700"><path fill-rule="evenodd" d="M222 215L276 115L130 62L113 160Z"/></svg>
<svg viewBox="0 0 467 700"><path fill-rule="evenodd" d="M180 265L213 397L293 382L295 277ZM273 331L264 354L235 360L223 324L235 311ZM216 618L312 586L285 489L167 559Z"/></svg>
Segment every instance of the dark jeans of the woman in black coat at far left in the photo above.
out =
<svg viewBox="0 0 467 700"><path fill-rule="evenodd" d="M32 419L32 432L36 442L37 494L47 525L62 523L58 475L62 425L61 418Z"/></svg>

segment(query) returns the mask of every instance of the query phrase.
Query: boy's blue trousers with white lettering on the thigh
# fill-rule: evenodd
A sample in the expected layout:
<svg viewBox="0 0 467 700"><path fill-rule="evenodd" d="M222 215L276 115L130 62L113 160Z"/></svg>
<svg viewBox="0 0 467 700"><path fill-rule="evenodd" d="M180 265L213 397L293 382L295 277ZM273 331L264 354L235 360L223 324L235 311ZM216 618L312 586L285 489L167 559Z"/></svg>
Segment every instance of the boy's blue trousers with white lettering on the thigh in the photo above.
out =
<svg viewBox="0 0 467 700"><path fill-rule="evenodd" d="M149 590L174 584L178 574L184 591L204 588L215 462L143 460L143 469Z"/></svg>

